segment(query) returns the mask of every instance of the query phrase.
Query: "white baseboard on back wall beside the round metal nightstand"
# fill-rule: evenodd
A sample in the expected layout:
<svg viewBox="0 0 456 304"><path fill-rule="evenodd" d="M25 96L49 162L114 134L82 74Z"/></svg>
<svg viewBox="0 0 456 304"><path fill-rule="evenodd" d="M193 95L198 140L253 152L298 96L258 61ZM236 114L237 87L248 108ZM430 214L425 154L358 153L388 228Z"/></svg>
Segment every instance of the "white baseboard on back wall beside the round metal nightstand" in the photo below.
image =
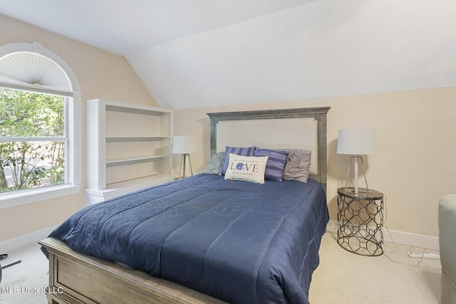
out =
<svg viewBox="0 0 456 304"><path fill-rule="evenodd" d="M327 231L336 232L337 221L329 221ZM383 227L383 241L403 244L407 246L422 246L432 250L439 250L439 238L437 236L423 236L422 234L411 234L410 232L388 230Z"/></svg>

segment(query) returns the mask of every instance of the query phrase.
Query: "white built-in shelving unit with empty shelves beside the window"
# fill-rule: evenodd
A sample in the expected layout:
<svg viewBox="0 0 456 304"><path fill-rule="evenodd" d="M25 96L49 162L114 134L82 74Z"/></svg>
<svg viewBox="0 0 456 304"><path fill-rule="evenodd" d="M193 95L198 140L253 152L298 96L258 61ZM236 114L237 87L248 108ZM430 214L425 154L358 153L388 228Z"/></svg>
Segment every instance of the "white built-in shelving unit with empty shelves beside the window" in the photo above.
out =
<svg viewBox="0 0 456 304"><path fill-rule="evenodd" d="M172 180L172 110L86 101L90 204Z"/></svg>

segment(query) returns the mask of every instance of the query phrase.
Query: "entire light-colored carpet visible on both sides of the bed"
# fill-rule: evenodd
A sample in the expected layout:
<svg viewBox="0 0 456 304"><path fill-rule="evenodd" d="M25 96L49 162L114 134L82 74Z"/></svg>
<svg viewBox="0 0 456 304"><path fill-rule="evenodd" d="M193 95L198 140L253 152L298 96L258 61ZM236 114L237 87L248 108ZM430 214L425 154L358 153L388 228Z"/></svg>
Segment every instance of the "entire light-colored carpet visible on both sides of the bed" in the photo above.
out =
<svg viewBox="0 0 456 304"><path fill-rule="evenodd" d="M393 250L393 243L385 243L385 251ZM312 278L310 302L440 303L440 260L420 262L419 258L409 258L408 251L410 246L398 246L397 251L383 256L358 256L338 246L334 234L326 233L320 248L320 266ZM413 252L421 253L418 249ZM42 292L48 285L48 260L38 244L9 252L9 257L0 263L5 266L18 260L21 263L3 270L0 303L46 304Z"/></svg>

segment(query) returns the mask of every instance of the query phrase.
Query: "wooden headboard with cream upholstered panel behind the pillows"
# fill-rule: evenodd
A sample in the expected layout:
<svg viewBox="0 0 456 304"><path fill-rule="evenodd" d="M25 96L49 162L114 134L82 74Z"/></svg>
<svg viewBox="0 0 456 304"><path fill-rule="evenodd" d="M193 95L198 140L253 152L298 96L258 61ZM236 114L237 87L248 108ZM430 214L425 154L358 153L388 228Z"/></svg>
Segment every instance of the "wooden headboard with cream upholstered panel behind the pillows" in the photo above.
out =
<svg viewBox="0 0 456 304"><path fill-rule="evenodd" d="M326 190L326 114L329 107L213 112L211 155L225 146L311 150L310 176Z"/></svg>

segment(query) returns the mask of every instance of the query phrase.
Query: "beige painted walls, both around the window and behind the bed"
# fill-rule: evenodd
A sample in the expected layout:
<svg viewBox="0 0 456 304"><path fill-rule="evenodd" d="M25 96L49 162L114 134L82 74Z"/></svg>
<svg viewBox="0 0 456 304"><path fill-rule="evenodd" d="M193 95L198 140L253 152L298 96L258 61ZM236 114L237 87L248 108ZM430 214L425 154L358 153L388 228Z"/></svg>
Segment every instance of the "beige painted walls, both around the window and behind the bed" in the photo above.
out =
<svg viewBox="0 0 456 304"><path fill-rule="evenodd" d="M75 71L83 100L108 98L155 105L124 58L1 15L0 28L0 44L37 41L61 56ZM331 219L336 219L336 189L343 186L348 165L346 156L336 154L338 130L373 128L380 151L365 158L365 162L369 185L386 194L388 228L437 236L437 200L442 194L456 193L455 100L453 87L175 110L175 134L197 135L200 152L192 155L192 165L195 172L202 172L209 160L206 112L331 106L327 188ZM84 119L83 115L83 125ZM83 142L84 134L83 127ZM176 158L175 167L178 165ZM82 176L85 180L84 168ZM83 198L81 190L62 199L0 209L0 241L59 224L84 206Z"/></svg>

